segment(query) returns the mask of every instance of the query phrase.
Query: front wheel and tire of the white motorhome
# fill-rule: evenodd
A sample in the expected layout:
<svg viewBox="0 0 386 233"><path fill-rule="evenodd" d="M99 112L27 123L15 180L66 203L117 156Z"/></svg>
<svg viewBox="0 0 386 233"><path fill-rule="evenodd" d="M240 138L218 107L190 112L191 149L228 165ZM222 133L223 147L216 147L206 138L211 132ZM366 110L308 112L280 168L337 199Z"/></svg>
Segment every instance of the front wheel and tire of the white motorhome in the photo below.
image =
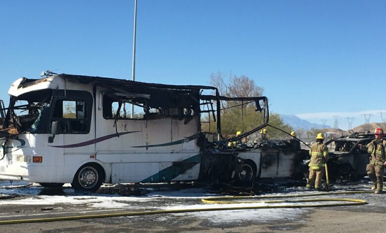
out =
<svg viewBox="0 0 386 233"><path fill-rule="evenodd" d="M103 169L98 164L85 164L78 169L71 186L75 190L95 192L104 179Z"/></svg>

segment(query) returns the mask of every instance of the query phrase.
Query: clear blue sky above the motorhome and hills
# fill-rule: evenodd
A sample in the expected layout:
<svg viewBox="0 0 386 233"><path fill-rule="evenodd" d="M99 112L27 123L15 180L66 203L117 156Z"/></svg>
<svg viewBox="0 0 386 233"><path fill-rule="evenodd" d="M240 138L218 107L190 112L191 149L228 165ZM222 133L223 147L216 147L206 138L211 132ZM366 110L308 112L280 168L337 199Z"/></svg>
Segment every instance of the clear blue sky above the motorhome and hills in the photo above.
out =
<svg viewBox="0 0 386 233"><path fill-rule="evenodd" d="M136 80L246 75L270 111L346 129L386 112L386 1L138 0ZM19 77L131 79L134 0L2 0L0 99ZM384 115L386 118L386 114Z"/></svg>

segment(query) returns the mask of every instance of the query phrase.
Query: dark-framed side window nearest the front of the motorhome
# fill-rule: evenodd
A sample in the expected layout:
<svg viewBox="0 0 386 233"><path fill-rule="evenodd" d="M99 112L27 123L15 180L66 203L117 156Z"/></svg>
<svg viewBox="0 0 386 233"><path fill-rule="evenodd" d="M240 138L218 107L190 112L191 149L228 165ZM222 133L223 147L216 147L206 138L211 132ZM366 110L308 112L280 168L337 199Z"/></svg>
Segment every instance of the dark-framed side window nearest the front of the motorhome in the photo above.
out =
<svg viewBox="0 0 386 233"><path fill-rule="evenodd" d="M59 121L61 133L88 133L87 103L83 100L56 100L52 121Z"/></svg>

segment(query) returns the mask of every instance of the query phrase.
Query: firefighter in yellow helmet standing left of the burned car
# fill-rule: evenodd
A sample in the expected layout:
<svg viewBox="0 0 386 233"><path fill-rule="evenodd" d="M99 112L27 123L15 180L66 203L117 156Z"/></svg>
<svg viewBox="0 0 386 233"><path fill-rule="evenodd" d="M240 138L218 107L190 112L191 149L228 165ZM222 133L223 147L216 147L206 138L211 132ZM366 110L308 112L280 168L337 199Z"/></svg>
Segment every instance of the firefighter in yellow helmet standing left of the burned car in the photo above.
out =
<svg viewBox="0 0 386 233"><path fill-rule="evenodd" d="M324 137L322 133L316 136L316 143L310 148L311 160L308 164L310 175L308 176L306 188L312 188L315 184L316 190L321 190L322 178L325 175L325 164L329 159L329 150L323 144Z"/></svg>

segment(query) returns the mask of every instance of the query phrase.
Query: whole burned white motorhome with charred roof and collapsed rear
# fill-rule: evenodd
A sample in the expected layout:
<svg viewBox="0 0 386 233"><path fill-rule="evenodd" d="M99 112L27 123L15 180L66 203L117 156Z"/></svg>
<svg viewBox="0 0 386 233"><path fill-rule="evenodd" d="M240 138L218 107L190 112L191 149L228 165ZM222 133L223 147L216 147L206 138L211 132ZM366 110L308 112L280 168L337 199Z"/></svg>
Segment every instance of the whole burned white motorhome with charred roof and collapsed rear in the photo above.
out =
<svg viewBox="0 0 386 233"><path fill-rule="evenodd" d="M207 95L205 92L210 92ZM301 173L304 152L284 141L222 147L201 132L215 119L222 141L266 127L266 97L228 98L210 86L165 85L55 74L17 79L1 106L0 178L71 183L96 191L101 183L220 180ZM214 93L214 94L213 94ZM233 138L221 134L221 102L254 105L262 122ZM130 117L129 105L136 106Z"/></svg>

